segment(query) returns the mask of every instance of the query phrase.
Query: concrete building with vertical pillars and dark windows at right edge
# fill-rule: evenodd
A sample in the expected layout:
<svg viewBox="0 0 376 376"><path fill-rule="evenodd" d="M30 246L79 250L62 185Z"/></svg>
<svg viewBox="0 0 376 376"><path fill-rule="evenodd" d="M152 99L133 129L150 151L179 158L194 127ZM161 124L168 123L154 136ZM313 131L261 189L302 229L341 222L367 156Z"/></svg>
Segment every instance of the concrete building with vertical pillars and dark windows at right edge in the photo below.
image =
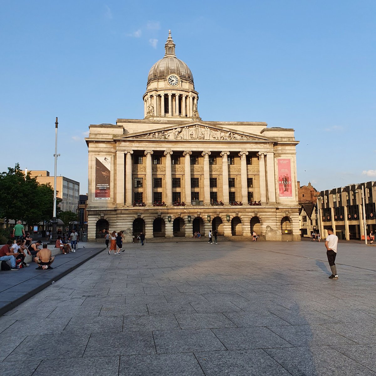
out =
<svg viewBox="0 0 376 376"><path fill-rule="evenodd" d="M317 203L322 237L327 235L324 229L333 227L340 239L364 239L364 220L367 235L371 230L373 233L376 230L376 182L349 184L321 191Z"/></svg>

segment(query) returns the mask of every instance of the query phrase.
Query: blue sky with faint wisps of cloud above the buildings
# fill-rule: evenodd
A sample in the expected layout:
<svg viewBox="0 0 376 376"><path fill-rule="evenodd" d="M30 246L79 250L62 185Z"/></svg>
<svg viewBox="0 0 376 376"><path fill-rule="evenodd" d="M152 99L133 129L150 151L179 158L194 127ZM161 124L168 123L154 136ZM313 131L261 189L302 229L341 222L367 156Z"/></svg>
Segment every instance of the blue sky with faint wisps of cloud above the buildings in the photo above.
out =
<svg viewBox="0 0 376 376"><path fill-rule="evenodd" d="M54 171L87 191L89 124L143 118L168 29L200 116L296 130L298 179L375 180L376 2L0 0L0 171ZM6 151L5 151L6 150Z"/></svg>

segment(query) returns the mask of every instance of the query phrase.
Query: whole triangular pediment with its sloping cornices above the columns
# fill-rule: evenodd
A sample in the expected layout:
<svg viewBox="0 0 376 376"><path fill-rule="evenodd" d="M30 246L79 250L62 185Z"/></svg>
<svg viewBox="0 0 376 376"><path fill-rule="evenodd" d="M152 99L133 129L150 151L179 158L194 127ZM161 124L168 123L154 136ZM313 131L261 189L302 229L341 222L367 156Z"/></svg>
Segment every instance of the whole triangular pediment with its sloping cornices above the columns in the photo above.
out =
<svg viewBox="0 0 376 376"><path fill-rule="evenodd" d="M185 123L163 128L149 130L147 132L129 133L121 138L128 139L159 139L180 141L263 141L273 142L272 138L252 133L234 131L229 128L208 125L202 122Z"/></svg>

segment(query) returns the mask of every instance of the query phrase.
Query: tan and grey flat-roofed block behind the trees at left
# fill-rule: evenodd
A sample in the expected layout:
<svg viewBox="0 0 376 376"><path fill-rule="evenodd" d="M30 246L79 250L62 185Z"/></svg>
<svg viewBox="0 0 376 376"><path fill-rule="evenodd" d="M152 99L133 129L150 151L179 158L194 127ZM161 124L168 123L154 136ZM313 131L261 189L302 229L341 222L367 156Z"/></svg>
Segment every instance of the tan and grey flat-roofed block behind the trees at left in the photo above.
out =
<svg viewBox="0 0 376 376"><path fill-rule="evenodd" d="M25 173L25 171L22 172ZM27 170L27 173L30 173L32 177L36 177L38 183L50 183L52 188L54 187L54 177L50 176L49 171ZM61 210L76 213L79 202L80 183L65 176L56 176L56 191L56 196L62 200L59 203Z"/></svg>

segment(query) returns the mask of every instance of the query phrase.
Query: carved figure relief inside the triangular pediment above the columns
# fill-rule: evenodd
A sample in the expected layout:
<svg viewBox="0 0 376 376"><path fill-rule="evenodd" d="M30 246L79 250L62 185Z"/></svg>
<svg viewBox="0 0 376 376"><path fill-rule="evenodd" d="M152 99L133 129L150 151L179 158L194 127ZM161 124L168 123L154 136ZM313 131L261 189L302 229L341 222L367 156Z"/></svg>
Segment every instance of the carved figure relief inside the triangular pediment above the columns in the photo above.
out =
<svg viewBox="0 0 376 376"><path fill-rule="evenodd" d="M232 131L224 131L199 124L193 126L179 127L170 130L161 130L150 132L143 135L134 136L134 138L149 139L166 139L166 140L218 140L218 141L241 141L241 140L257 140L253 136L242 135Z"/></svg>

